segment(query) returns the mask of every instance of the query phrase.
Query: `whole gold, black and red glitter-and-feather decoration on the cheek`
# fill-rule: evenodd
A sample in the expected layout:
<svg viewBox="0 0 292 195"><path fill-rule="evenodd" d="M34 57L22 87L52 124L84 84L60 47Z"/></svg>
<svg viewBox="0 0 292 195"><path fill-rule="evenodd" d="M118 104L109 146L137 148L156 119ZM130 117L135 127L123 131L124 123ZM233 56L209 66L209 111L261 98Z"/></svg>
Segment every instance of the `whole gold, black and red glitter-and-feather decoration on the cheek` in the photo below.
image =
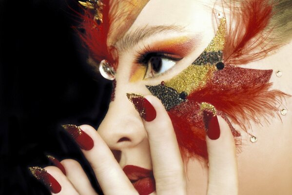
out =
<svg viewBox="0 0 292 195"><path fill-rule="evenodd" d="M235 144L240 145L240 133L229 118L246 130L250 119L273 116L277 97L282 95L269 91L272 70L224 64L225 37L226 20L222 18L214 39L189 67L162 84L146 85L168 111L183 157L208 158L204 112L223 117Z"/></svg>

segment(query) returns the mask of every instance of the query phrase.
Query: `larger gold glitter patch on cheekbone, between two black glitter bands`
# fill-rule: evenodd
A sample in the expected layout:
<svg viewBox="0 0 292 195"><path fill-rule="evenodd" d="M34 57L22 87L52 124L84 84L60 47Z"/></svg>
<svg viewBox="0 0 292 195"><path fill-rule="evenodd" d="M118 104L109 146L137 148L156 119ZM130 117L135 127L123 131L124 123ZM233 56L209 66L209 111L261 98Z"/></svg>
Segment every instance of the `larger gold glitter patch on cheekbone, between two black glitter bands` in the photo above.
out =
<svg viewBox="0 0 292 195"><path fill-rule="evenodd" d="M191 94L194 90L204 87L215 70L214 65L191 65L174 78L165 81L165 86L174 88L178 93Z"/></svg>

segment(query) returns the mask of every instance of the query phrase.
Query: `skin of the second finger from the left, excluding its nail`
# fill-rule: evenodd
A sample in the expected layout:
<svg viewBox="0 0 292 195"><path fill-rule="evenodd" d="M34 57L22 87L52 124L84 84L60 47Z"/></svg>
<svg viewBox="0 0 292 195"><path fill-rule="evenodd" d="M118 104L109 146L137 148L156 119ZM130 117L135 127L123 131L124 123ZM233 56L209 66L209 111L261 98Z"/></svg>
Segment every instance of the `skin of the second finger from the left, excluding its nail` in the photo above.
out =
<svg viewBox="0 0 292 195"><path fill-rule="evenodd" d="M61 164L66 170L66 176L80 195L97 195L81 165L73 159L64 159Z"/></svg>

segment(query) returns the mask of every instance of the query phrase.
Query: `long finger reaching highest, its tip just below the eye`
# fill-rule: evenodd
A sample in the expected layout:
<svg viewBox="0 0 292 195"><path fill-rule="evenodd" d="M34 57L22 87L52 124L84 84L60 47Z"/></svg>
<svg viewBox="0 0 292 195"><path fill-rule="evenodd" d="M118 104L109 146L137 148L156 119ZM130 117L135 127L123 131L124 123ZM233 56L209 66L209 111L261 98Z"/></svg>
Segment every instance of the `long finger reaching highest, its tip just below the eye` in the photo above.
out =
<svg viewBox="0 0 292 195"><path fill-rule="evenodd" d="M143 122L149 139L156 192L157 194L184 195L186 194L184 166L172 121L158 98L154 96L145 98L155 110L151 111L151 105L145 101L144 105L149 107L145 108L148 119L146 118ZM153 117L149 117L149 113ZM149 121L149 118L153 120Z"/></svg>

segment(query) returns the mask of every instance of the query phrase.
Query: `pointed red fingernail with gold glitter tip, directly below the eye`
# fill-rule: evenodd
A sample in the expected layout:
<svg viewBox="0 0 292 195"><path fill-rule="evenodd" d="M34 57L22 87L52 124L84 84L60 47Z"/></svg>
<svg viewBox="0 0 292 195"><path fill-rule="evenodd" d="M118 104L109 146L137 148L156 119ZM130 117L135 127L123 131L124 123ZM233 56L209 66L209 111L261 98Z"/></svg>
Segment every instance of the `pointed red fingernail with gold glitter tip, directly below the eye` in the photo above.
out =
<svg viewBox="0 0 292 195"><path fill-rule="evenodd" d="M127 93L128 99L133 103L142 118L150 122L156 118L156 110L152 104L140 94Z"/></svg>

